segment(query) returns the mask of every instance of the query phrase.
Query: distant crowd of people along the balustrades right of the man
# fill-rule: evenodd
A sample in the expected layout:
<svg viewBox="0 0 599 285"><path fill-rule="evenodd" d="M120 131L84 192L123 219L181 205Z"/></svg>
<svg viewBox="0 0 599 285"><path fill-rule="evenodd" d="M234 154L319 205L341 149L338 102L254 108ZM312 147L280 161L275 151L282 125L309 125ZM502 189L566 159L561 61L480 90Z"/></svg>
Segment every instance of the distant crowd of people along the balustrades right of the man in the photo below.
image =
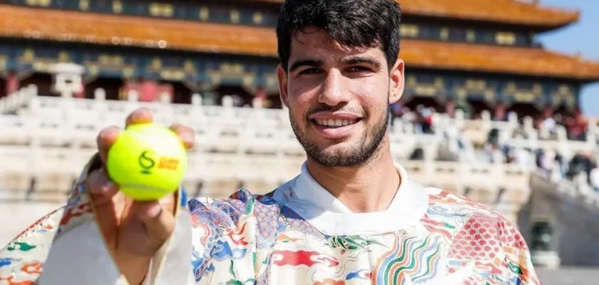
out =
<svg viewBox="0 0 599 285"><path fill-rule="evenodd" d="M414 110L400 104L391 105L391 118L401 118L406 123L414 125L416 134L435 133L434 108L417 105ZM497 118L492 118L496 120ZM394 120L391 120L393 123ZM563 127L563 128L560 128ZM585 141L587 139L588 122L584 116L577 112L575 115L546 115L533 121L533 128L538 130L539 140L558 140L560 130L565 130L568 140ZM488 163L513 163L522 170L537 167L548 178L556 180L570 180L576 183L584 182L588 189L599 193L599 165L592 152L580 152L567 160L563 154L551 149L533 149L530 147L511 147L502 145L499 130L492 129L488 133L486 143L475 150L474 157L478 162ZM518 128L513 130L512 138L528 138L522 120ZM464 142L457 138L459 150L464 150ZM411 160L424 160L424 151L416 147L409 157ZM456 158L457 159L457 158Z"/></svg>

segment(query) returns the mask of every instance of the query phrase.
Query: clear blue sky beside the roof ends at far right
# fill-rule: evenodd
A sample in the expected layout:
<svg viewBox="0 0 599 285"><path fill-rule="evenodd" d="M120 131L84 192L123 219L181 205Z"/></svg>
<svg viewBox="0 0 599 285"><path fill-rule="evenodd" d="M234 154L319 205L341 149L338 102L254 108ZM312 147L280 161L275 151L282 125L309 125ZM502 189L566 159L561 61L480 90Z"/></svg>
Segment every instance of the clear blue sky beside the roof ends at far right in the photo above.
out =
<svg viewBox="0 0 599 285"><path fill-rule="evenodd" d="M557 31L543 33L537 41L551 51L599 62L599 0L541 0L541 5L580 11L580 21ZM599 117L599 83L585 86L580 94L585 115Z"/></svg>

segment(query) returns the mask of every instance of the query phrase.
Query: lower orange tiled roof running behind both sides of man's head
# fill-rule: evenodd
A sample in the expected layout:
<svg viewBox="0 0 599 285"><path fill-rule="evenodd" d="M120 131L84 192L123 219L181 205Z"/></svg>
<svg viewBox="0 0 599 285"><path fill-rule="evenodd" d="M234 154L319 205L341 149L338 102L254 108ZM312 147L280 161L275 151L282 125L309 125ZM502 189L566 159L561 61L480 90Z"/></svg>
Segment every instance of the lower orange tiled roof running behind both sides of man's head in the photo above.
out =
<svg viewBox="0 0 599 285"><path fill-rule="evenodd" d="M481 0L482 1L482 0ZM277 56L272 28L88 14L0 5L0 35L56 41ZM541 48L483 46L405 39L408 66L599 80L599 63Z"/></svg>

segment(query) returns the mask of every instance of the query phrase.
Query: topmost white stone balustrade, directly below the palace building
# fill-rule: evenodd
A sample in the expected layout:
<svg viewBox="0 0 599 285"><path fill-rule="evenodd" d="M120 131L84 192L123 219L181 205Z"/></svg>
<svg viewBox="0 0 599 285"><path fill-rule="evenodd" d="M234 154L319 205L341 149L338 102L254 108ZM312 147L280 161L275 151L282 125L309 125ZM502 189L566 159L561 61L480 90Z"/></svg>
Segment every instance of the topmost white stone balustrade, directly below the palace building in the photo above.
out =
<svg viewBox="0 0 599 285"><path fill-rule="evenodd" d="M65 122L75 122L74 124L81 128L99 130L106 125L122 125L121 118L130 113L130 110L138 107L148 108L156 114L157 123L188 123L194 127L198 125L228 125L231 128L242 125L253 125L256 128L288 128L289 119L286 110L270 110L263 108L226 108L220 106L201 105L200 95L193 96L193 104L170 104L170 103L140 103L135 100L135 94L130 94L130 100L113 101L105 100L106 95L103 90L96 90L96 99L72 99L65 96L63 98L39 97L31 95L35 90L34 86L19 90L7 98L1 99L4 106L2 110L17 111L22 117L37 116L44 120L64 120ZM229 98L230 99L230 98ZM225 105L227 98L225 98ZM232 103L232 102L231 102ZM230 104L229 104L230 105ZM255 102L260 106L259 102ZM26 106L19 108L17 106ZM5 112L6 113L6 112ZM524 130L528 136L527 139L511 138L513 130L518 128L515 116L511 115L507 122L496 122L490 120L488 112L483 113L482 120L464 120L464 115L460 110L456 111L456 118L451 119L446 115L436 114L434 125L436 129L449 128L453 126L459 128L464 138L481 145L486 141L488 132L496 128L500 133L500 143L511 145L513 147L526 148L546 148L563 152L565 157L570 157L574 152L583 150L592 150L595 145L595 133L598 133L593 124L590 124L588 140L585 142L570 141L565 138L565 130L558 129L558 140L538 140L538 131L532 127L531 118L525 118ZM393 130L399 133L414 133L414 125L401 119L396 119ZM240 127L241 128L241 127Z"/></svg>

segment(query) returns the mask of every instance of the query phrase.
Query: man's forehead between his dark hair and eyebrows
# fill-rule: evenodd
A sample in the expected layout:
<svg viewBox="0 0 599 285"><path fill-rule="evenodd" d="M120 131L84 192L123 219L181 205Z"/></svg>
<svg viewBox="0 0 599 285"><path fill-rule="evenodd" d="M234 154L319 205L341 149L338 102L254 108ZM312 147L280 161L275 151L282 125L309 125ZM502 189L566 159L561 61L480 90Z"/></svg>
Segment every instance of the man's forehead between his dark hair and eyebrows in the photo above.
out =
<svg viewBox="0 0 599 285"><path fill-rule="evenodd" d="M386 60L379 46L347 47L334 41L319 28L307 27L297 33L291 41L290 61L314 58L322 61L337 61L346 56L369 56L384 63Z"/></svg>

